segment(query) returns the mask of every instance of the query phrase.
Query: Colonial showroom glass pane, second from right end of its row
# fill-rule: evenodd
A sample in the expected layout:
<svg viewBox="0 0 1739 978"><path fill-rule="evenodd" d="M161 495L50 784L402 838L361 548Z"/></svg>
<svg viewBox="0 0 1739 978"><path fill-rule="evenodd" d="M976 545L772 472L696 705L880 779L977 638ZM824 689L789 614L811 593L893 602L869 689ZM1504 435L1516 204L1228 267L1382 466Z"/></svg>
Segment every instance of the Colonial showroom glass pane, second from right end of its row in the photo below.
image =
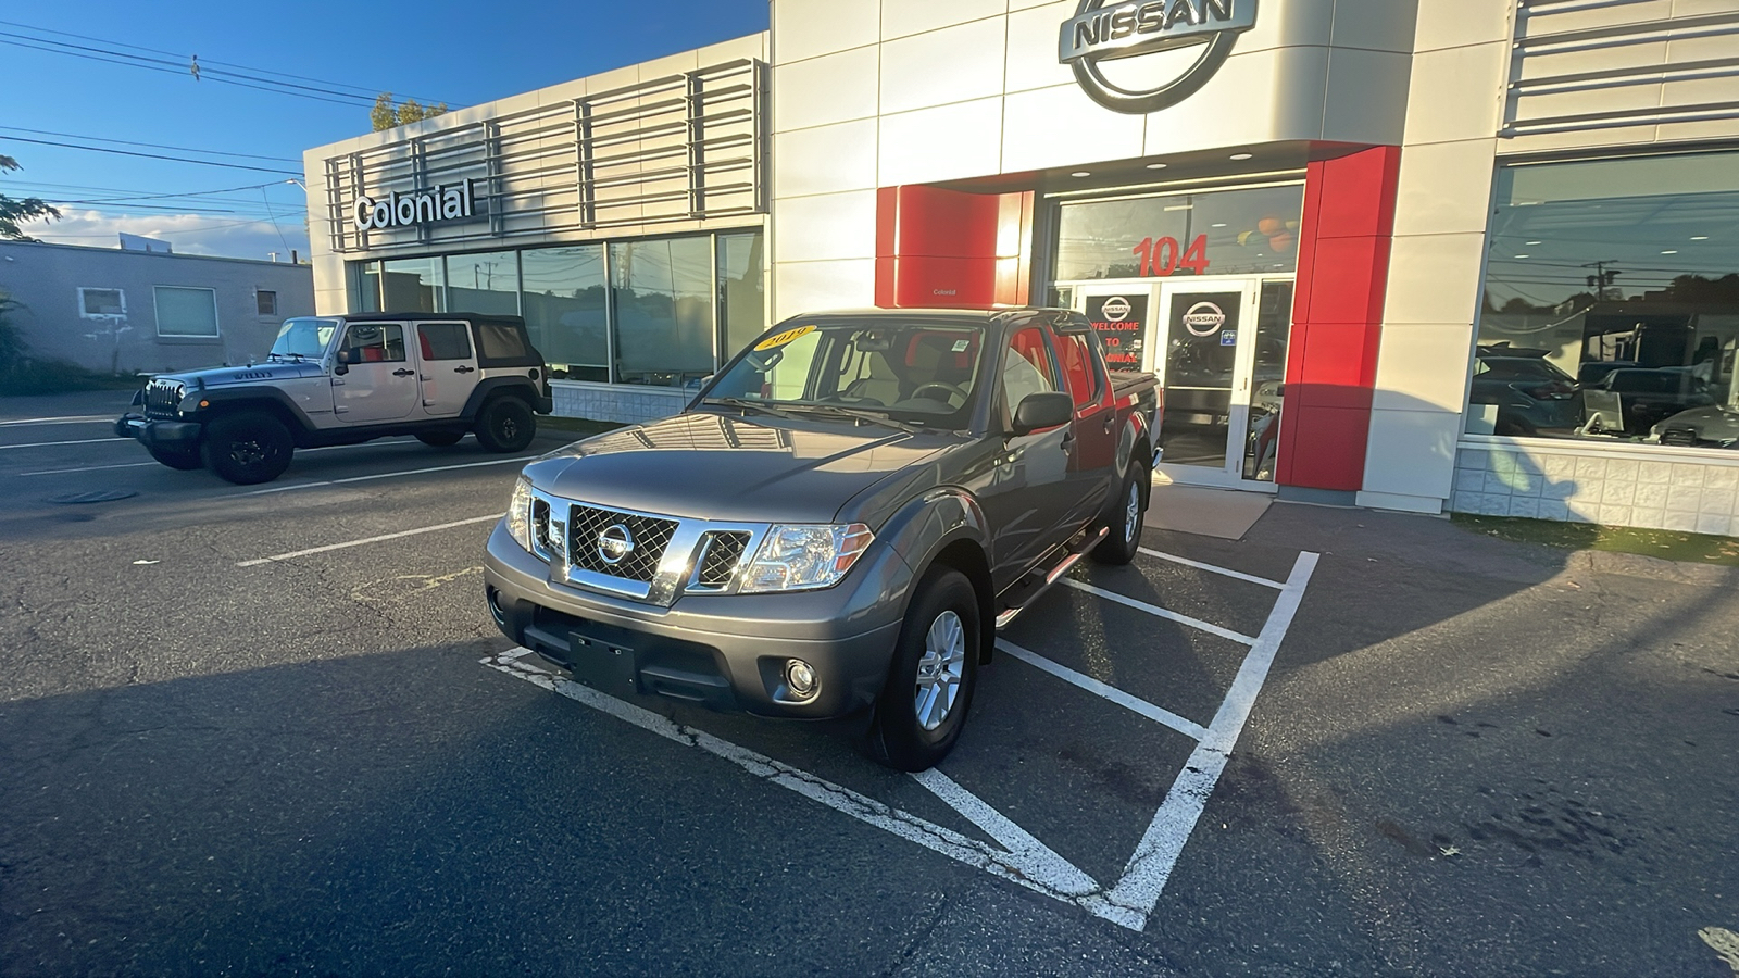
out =
<svg viewBox="0 0 1739 978"><path fill-rule="evenodd" d="M713 238L610 245L616 379L685 386L713 372Z"/></svg>

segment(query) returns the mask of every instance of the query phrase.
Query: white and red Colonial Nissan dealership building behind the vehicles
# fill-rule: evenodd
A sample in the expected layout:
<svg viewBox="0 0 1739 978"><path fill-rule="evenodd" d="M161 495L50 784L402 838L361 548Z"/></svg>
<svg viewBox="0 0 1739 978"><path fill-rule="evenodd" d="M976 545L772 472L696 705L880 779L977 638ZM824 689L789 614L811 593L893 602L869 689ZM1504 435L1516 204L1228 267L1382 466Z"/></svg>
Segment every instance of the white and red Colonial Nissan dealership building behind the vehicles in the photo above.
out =
<svg viewBox="0 0 1739 978"><path fill-rule="evenodd" d="M322 313L670 414L772 322L1054 305L1162 475L1739 534L1739 0L772 0L306 153Z"/></svg>

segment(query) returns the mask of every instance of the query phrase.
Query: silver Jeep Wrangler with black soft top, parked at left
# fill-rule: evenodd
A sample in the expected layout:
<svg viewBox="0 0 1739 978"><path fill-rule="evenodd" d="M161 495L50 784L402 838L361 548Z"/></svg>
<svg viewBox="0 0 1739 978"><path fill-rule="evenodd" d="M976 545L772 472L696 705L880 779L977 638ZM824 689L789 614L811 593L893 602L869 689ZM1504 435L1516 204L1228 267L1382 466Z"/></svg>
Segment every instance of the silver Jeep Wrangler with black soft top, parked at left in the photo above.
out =
<svg viewBox="0 0 1739 978"><path fill-rule="evenodd" d="M520 317L363 313L285 320L264 364L151 378L115 433L157 461L270 482L294 449L416 435L523 451L550 414L550 369Z"/></svg>

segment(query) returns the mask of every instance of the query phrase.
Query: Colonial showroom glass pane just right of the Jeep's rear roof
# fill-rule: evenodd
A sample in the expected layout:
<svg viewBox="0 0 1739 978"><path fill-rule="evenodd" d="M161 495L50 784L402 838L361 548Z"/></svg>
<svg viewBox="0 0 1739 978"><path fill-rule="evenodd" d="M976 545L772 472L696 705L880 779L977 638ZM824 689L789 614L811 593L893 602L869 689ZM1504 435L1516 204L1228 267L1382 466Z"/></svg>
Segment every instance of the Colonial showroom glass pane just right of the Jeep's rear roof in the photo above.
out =
<svg viewBox="0 0 1739 978"><path fill-rule="evenodd" d="M603 245L543 247L520 252L525 327L550 362L550 376L610 379Z"/></svg>

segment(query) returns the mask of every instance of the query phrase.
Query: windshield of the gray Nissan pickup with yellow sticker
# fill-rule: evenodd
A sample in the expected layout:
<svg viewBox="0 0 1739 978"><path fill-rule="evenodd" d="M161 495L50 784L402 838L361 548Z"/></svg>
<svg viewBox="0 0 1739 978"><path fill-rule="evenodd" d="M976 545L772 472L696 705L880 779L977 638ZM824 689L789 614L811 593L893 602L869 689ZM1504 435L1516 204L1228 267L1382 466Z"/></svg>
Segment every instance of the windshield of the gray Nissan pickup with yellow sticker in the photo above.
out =
<svg viewBox="0 0 1739 978"><path fill-rule="evenodd" d="M767 414L880 416L965 428L984 327L887 318L781 325L711 383L703 404Z"/></svg>

